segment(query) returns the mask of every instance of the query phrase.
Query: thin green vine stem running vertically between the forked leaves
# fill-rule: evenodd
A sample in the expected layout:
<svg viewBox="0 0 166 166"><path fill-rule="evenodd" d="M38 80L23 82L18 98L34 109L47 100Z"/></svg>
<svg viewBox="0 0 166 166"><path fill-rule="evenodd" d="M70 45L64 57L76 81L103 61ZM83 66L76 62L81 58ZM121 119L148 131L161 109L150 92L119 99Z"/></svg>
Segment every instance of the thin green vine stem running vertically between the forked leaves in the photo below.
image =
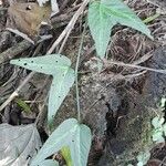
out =
<svg viewBox="0 0 166 166"><path fill-rule="evenodd" d="M76 59L76 65L75 65L75 91L76 91L76 107L77 107L77 121L81 122L81 108L80 108L80 95L79 95L79 80L77 80L77 71L79 71L79 62L82 53L82 48L83 48L83 41L84 41L84 34L86 30L86 22L82 32L81 37L81 43L79 48L79 54Z"/></svg>

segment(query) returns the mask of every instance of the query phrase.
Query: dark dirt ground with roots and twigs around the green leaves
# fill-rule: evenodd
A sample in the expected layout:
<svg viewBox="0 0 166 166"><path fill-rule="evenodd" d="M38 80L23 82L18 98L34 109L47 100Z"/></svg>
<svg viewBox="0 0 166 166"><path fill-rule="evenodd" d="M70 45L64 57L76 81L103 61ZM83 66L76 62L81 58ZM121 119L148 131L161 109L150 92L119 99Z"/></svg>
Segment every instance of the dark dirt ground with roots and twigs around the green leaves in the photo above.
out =
<svg viewBox="0 0 166 166"><path fill-rule="evenodd" d="M22 1L27 3L27 1ZM116 25L113 29L112 42L107 49L108 60L165 70L166 2L164 0L149 0L148 2L146 0L126 0L125 2L143 20L156 12L159 13L157 18L147 22L154 41L129 28ZM49 133L45 123L45 98L52 79L35 73L20 89L30 71L13 66L9 61L14 58L44 55L54 39L69 23L81 1L72 6L73 3L74 1L66 1L66 4L60 1L60 13L51 20L53 28L43 27L38 30L40 34L51 33L53 39L32 44L6 29L14 27L21 31L24 28L12 22L11 14L15 14L18 19L20 15L15 9L12 9L11 13L9 12L10 1L0 0L0 105L3 105L13 92L17 91L19 94L4 107L0 107L0 123L31 124L34 123L39 112L42 112L38 128L43 142L48 138ZM58 52L62 46L61 53L71 59L73 66L75 66L85 19L85 14L80 17L65 45L61 44L55 49ZM31 31L24 30L24 33L33 41L38 41L37 35L35 38L33 35L37 33L37 28L30 29ZM166 75L118 64L106 65L98 73L95 54L94 42L87 29L79 65L79 89L82 120L93 133L89 166L136 165L137 154L147 148L151 151L151 159L147 165L165 166L166 146L154 145L149 133L152 132L151 121L158 112L159 100L166 95ZM17 102L18 98L25 101L30 106L32 111L30 114L22 111ZM55 116L54 127L69 117L75 117L75 87L72 87Z"/></svg>

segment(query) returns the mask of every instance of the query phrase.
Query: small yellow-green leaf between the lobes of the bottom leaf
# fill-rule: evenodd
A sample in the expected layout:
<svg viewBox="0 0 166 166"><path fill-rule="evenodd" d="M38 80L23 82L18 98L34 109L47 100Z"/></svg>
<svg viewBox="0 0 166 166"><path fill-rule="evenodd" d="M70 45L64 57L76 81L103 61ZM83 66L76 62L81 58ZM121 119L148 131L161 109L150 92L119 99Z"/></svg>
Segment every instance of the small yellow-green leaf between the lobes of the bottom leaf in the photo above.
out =
<svg viewBox="0 0 166 166"><path fill-rule="evenodd" d="M61 148L61 154L63 158L65 159L66 166L72 166L72 157L69 146L63 146Z"/></svg>

